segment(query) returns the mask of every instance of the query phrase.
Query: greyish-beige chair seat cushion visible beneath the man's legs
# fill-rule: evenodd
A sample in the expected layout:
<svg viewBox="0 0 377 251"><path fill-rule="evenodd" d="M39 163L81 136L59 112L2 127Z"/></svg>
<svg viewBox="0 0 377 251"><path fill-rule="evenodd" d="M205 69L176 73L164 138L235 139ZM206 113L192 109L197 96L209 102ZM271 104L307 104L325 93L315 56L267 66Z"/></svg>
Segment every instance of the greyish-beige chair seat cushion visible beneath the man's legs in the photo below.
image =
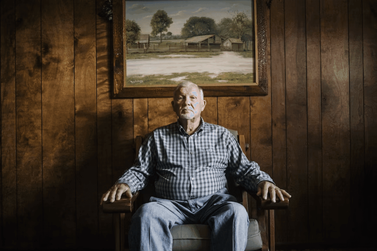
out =
<svg viewBox="0 0 377 251"><path fill-rule="evenodd" d="M176 225L170 230L173 236L173 251L201 251L210 250L211 230L208 225L188 224ZM262 248L261 232L258 222L250 219L245 251Z"/></svg>

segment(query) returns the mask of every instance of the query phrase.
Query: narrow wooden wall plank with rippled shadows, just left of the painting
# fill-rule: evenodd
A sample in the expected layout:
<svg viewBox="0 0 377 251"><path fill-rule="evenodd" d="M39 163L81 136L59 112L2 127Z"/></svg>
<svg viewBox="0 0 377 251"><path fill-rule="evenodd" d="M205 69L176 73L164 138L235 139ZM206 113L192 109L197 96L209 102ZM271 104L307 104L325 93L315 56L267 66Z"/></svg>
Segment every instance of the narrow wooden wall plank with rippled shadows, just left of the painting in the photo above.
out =
<svg viewBox="0 0 377 251"><path fill-rule="evenodd" d="M97 13L102 11L106 0L96 1ZM110 22L97 15L97 175L98 201L112 185L112 138L111 138L111 40ZM100 210L100 208L98 208ZM114 248L112 214L98 213L98 247Z"/></svg>

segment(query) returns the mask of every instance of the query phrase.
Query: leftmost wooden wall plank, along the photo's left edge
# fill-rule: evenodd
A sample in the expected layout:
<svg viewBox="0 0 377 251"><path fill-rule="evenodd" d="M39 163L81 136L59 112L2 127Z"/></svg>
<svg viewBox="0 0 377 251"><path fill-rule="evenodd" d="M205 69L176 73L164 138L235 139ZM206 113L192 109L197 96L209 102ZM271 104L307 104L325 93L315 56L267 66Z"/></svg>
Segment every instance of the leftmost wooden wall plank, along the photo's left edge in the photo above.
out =
<svg viewBox="0 0 377 251"><path fill-rule="evenodd" d="M1 1L2 246L17 246L15 6Z"/></svg>

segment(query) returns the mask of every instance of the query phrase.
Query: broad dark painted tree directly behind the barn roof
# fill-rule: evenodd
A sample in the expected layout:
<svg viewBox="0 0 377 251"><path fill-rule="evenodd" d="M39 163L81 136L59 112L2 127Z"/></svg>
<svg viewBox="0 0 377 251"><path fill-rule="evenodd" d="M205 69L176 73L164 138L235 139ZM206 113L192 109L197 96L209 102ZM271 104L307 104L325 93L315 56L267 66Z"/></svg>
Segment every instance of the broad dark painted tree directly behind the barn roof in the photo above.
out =
<svg viewBox="0 0 377 251"><path fill-rule="evenodd" d="M209 17L190 17L181 30L183 37L217 34L215 20Z"/></svg>

